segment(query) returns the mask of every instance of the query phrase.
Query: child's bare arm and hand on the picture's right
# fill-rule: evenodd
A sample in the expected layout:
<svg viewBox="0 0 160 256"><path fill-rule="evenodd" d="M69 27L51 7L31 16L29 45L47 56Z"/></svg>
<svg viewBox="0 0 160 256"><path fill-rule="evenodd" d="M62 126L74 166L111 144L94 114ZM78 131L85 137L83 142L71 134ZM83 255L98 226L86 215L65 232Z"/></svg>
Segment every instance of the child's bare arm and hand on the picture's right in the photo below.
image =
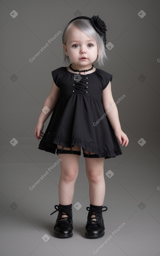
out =
<svg viewBox="0 0 160 256"><path fill-rule="evenodd" d="M111 82L109 82L107 87L104 90L102 90L102 103L104 106L104 110L107 113L108 120L111 123L112 128L114 130L115 136L119 140L120 144L122 144L122 146L124 144L125 146L127 146L129 140L127 135L123 133L121 129L117 106L112 96Z"/></svg>

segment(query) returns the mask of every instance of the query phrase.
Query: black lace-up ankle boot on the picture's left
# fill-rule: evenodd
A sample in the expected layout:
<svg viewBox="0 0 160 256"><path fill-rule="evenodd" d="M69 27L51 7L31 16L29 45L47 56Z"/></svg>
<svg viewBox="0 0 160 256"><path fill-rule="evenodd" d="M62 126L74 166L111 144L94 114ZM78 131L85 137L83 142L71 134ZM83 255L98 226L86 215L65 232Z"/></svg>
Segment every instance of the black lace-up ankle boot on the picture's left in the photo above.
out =
<svg viewBox="0 0 160 256"><path fill-rule="evenodd" d="M56 208L56 206L58 207L58 209ZM73 236L72 204L59 204L55 205L54 208L56 209L56 211L59 211L56 223L54 225L54 235L60 238L69 238ZM54 212L52 212L50 215L52 215ZM69 217L62 217L62 215L65 214L67 214Z"/></svg>

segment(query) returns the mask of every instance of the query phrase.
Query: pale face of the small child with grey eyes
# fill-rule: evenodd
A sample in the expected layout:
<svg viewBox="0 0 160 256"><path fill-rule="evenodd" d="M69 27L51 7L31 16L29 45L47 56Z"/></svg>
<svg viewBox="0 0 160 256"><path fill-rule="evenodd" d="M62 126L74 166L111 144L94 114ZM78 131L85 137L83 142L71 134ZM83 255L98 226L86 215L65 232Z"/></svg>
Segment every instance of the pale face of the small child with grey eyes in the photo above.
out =
<svg viewBox="0 0 160 256"><path fill-rule="evenodd" d="M74 25L68 31L63 49L70 61L79 66L89 66L98 56L97 43ZM86 59L81 59L82 57Z"/></svg>

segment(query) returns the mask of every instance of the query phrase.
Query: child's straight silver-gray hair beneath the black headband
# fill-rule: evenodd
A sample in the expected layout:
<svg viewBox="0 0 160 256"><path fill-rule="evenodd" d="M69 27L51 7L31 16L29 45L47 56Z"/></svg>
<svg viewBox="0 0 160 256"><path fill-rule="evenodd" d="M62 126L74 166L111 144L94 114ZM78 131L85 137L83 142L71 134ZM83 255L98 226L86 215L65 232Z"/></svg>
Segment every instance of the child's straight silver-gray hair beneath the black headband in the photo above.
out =
<svg viewBox="0 0 160 256"><path fill-rule="evenodd" d="M94 61L94 63L98 62L99 66L104 66L104 62L105 62L105 60L108 60L108 58L106 55L106 48L105 48L104 42L103 42L103 35L100 35L92 27L90 20L79 19L79 20L75 20L75 21L69 23L63 31L63 37L62 37L63 44L66 44L67 33L68 33L69 28L72 25L75 25L77 28L81 29L87 36L91 37L94 41L96 41L98 50L99 50L99 55L98 55L97 59L95 60L96 62ZM63 51L63 59L64 59L64 63L66 65L71 63L69 56L67 56L64 51Z"/></svg>

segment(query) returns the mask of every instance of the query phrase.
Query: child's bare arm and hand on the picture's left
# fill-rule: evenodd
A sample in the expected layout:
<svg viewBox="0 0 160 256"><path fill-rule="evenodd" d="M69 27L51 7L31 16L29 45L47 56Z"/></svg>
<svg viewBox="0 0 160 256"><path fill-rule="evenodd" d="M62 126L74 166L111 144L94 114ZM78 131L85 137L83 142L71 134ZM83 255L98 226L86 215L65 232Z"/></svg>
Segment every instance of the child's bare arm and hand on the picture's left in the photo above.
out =
<svg viewBox="0 0 160 256"><path fill-rule="evenodd" d="M39 140L41 137L43 137L44 133L43 133L43 128L44 128L44 123L47 120L47 118L49 117L49 115L52 113L55 104L59 98L60 95L60 88L58 86L56 86L56 84L52 83L52 88L51 91L49 92L47 98L44 101L43 107L47 106L49 108L49 112L47 114L45 114L42 110L40 112L38 121L37 121L37 125L35 127L34 130L34 135L37 138L37 140Z"/></svg>

